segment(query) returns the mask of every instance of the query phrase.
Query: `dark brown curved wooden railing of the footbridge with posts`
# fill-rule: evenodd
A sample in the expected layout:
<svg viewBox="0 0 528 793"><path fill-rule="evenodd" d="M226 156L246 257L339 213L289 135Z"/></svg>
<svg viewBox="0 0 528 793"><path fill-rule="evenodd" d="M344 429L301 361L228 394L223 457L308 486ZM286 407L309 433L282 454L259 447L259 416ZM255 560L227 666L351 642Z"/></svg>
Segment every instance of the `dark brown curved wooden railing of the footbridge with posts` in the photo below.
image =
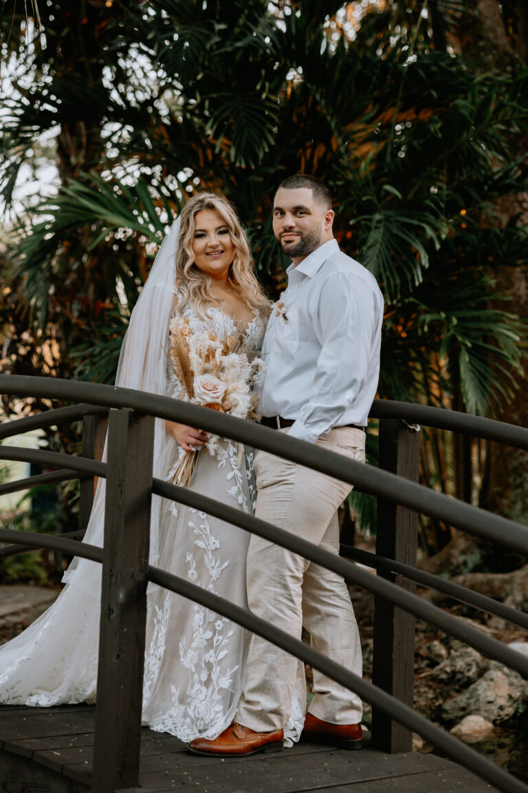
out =
<svg viewBox="0 0 528 793"><path fill-rule="evenodd" d="M80 475L84 513L89 509L90 492L93 493L91 477L107 477L103 550L75 542L64 535L50 537L0 531L0 542L17 542L17 549L20 546L50 548L103 562L93 760L93 789L97 793L112 793L119 788L137 787L138 784L146 584L149 580L196 600L248 630L268 638L372 703L373 741L385 751L408 751L412 731L416 731L500 790L507 793L528 791L526 785L502 768L485 760L473 749L412 711L413 621L416 617L439 626L481 653L500 660L528 677L528 659L462 623L453 615L421 600L412 591L412 581L424 583L425 577L426 586L442 588L448 584L454 588L451 594L462 595L462 600L469 600L475 605L478 603L478 607L492 613L500 612L505 619L511 619L517 624L526 626L528 622L526 615L503 604L442 579L427 577L425 573L416 570L416 511L433 515L479 537L513 547L525 554L528 553L528 529L418 485L416 480L420 433L417 427L412 426L412 420L427 423L424 419L430 416L428 423L431 426L453 429L453 425L456 425L458 431L498 441L506 439L511 445L528 449L526 429L475 416L451 414L438 408L377 401L371 415L381 419L380 464L385 467L382 470L348 460L302 441L287 439L266 427L242 422L230 416L221 416L207 408L129 389L46 378L2 376L0 393L2 392L63 400L77 400L82 397L92 403L93 407L83 404L60 408L44 416L33 416L4 424L0 427L0 439L28 427L44 424L50 426L59 420L74 420L80 416L85 416L85 428L89 430L90 423L93 422L91 416L101 415L110 408L107 463L88 458L71 458L65 454L43 450L19 450L16 447L0 446L0 458L3 459L31 458L32 461L44 462L58 468L62 466L62 470L32 477L32 485L37 484L37 479L39 483L43 483ZM153 416L195 424L207 431L249 442L280 457L301 462L302 465L349 481L364 492L378 496L381 504L378 509L377 554L370 558L373 555L365 555L363 552L361 558L361 561L378 568L378 576L374 577L351 561L329 554L301 538L292 537L253 515L246 515L226 504L219 504L176 485L153 480L152 459L146 453L153 446ZM465 422L464 419L469 420ZM93 423L90 432L93 435ZM85 450L89 450L91 444L88 440L90 432L86 434ZM27 486L28 480L3 485L0 493L7 492L7 489L13 492ZM257 619L249 611L235 607L187 580L150 566L148 547L151 493L199 508L246 531L260 534L336 571L348 583L358 584L374 592L373 683L353 675L321 653ZM127 531L124 531L125 526ZM13 552L13 547L0 550L0 557ZM353 549L350 554L356 558L362 556Z"/></svg>

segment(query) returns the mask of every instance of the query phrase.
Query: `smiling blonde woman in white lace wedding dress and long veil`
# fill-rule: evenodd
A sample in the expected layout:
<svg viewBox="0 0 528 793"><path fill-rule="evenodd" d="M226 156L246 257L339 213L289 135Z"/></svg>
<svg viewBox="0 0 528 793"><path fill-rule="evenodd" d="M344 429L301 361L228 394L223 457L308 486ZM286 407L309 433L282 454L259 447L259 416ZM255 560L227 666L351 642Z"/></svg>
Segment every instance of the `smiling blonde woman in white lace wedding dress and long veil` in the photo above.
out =
<svg viewBox="0 0 528 793"><path fill-rule="evenodd" d="M199 193L161 245L131 315L116 385L188 399L170 362L169 324L192 334L239 335L248 358L260 351L269 303L253 275L245 233L226 199ZM170 478L182 455L198 450L191 488L253 511L253 450L221 439L215 454L199 429L156 419L154 476ZM106 454L106 453L105 453ZM104 456L105 458L105 456ZM104 481L85 542L101 546ZM153 496L150 563L247 608L249 534L222 520ZM51 707L94 702L101 611L101 566L76 558L55 603L0 648L0 702ZM147 592L142 721L182 741L214 738L234 718L249 636L206 607L150 585ZM304 721L302 684L287 741ZM288 741L289 742L289 741Z"/></svg>

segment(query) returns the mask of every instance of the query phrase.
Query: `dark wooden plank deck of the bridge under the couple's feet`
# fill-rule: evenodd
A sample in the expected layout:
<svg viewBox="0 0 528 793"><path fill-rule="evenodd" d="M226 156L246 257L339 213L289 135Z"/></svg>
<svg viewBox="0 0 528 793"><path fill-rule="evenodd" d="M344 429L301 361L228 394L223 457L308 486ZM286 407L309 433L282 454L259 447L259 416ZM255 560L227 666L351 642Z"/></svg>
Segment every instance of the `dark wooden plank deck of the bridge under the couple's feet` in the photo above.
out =
<svg viewBox="0 0 528 793"><path fill-rule="evenodd" d="M95 708L0 707L0 791L87 793ZM196 757L181 741L144 729L140 791L201 793L492 793L465 768L432 754L388 755L364 747L344 752L300 743L248 758ZM97 793L97 791L93 791ZM132 793L132 791L120 791Z"/></svg>

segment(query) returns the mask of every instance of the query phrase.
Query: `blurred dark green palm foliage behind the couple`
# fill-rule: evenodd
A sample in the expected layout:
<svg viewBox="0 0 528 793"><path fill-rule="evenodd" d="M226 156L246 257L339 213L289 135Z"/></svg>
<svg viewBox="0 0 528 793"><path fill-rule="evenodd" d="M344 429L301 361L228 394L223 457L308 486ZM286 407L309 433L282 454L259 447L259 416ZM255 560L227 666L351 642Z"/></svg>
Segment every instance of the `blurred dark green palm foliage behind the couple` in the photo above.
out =
<svg viewBox="0 0 528 793"><path fill-rule="evenodd" d="M276 298L272 197L302 171L386 297L379 396L526 426L526 3L5 0L0 29L2 371L112 382L199 190L237 206ZM526 520L519 453L424 435L425 484ZM451 536L423 528L429 553Z"/></svg>

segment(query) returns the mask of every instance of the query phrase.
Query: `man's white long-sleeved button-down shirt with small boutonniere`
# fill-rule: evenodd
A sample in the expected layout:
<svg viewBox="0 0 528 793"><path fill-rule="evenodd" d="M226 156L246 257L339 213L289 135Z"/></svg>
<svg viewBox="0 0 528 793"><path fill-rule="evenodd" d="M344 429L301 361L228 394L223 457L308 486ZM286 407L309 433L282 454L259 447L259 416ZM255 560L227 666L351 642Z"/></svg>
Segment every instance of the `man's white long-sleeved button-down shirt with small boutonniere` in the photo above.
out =
<svg viewBox="0 0 528 793"><path fill-rule="evenodd" d="M287 269L288 287L264 337L263 416L294 419L314 442L332 427L365 426L378 388L383 297L335 239ZM277 304L275 304L277 306Z"/></svg>

